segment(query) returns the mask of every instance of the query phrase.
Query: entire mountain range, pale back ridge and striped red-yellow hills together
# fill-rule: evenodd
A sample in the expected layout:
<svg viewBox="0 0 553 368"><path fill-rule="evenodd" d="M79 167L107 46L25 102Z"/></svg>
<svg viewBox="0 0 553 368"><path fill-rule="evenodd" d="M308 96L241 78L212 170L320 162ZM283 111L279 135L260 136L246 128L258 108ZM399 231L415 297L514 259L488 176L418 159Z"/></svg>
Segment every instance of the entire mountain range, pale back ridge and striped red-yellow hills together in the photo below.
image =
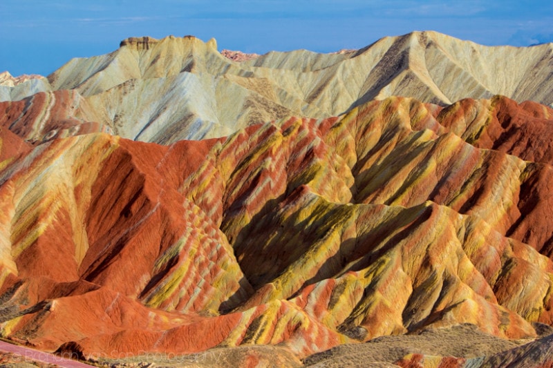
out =
<svg viewBox="0 0 553 368"><path fill-rule="evenodd" d="M551 367L552 50L140 37L3 73L1 337L169 366Z"/></svg>

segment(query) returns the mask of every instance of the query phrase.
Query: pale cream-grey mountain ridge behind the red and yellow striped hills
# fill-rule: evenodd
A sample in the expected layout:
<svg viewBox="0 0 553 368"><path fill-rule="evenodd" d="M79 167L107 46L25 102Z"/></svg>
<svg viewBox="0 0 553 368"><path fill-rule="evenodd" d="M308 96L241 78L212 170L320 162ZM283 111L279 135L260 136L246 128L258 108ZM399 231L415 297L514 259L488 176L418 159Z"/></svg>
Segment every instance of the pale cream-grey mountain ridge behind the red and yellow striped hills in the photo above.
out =
<svg viewBox="0 0 553 368"><path fill-rule="evenodd" d="M223 54L227 57L214 39L129 38L108 55L72 59L47 81L0 86L0 100L5 100L0 110L30 109L41 116L42 126L26 136L32 142L59 136L59 129L48 130L56 124L50 118L53 109L73 124L95 122L121 137L171 144L223 137L292 116L339 116L394 95L440 106L494 95L553 104L552 43L489 47L427 31L331 54ZM244 61L233 61L236 57ZM33 106L32 95L39 91L46 96ZM73 130L61 136L79 128Z"/></svg>

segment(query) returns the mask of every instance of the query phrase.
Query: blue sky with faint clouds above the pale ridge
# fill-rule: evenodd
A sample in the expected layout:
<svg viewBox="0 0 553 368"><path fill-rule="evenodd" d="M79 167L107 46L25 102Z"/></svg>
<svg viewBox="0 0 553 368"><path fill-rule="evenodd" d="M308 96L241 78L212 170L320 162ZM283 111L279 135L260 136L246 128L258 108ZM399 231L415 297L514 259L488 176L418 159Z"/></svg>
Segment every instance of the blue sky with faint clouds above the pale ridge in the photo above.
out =
<svg viewBox="0 0 553 368"><path fill-rule="evenodd" d="M484 45L553 41L553 1L0 0L0 71L48 75L127 37L214 37L219 50L362 48L436 30Z"/></svg>

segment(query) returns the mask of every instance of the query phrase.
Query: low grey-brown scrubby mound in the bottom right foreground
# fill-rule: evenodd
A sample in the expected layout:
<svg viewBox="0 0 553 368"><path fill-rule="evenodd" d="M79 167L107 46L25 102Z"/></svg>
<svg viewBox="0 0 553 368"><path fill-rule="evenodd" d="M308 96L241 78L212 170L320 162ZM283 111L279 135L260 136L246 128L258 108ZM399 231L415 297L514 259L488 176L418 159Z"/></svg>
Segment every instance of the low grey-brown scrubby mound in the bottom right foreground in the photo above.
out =
<svg viewBox="0 0 553 368"><path fill-rule="evenodd" d="M507 341L459 325L341 345L303 360L307 367L551 367L553 335Z"/></svg>

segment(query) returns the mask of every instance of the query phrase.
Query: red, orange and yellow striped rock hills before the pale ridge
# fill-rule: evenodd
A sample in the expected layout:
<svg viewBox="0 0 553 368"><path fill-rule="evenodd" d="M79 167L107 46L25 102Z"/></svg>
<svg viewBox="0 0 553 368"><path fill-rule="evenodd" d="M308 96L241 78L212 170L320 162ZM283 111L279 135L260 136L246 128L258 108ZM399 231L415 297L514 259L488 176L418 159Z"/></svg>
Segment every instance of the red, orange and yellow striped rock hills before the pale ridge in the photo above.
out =
<svg viewBox="0 0 553 368"><path fill-rule="evenodd" d="M553 324L552 119L391 97L221 139L35 148L3 123L1 334L85 357L299 358L460 323L536 336Z"/></svg>

